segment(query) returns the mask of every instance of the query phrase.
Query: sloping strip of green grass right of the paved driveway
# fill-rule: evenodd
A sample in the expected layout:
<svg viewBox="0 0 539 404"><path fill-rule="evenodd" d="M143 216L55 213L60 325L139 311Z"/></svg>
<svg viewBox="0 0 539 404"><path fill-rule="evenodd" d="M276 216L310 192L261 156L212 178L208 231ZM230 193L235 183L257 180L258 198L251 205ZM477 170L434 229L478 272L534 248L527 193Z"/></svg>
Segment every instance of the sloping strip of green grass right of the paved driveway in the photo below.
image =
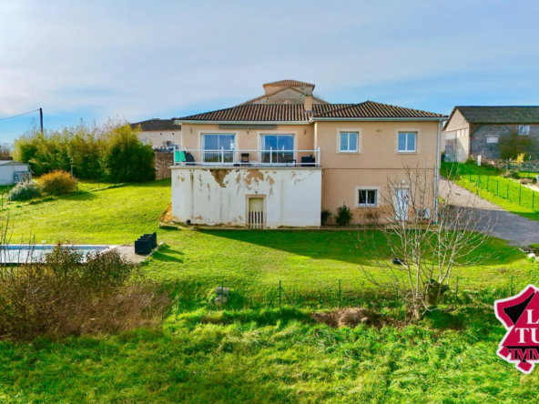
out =
<svg viewBox="0 0 539 404"><path fill-rule="evenodd" d="M500 177L489 167L469 164L442 163L441 174L452 177L461 187L522 217L539 221L539 192L522 186L511 178ZM520 177L534 178L534 173L519 173Z"/></svg>

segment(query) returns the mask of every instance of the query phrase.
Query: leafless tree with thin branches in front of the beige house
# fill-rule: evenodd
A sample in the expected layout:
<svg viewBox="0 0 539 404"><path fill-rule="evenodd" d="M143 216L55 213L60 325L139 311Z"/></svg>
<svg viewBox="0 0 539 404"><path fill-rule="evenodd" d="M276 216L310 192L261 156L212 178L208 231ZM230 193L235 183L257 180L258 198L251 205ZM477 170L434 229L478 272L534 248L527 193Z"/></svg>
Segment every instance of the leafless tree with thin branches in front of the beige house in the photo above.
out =
<svg viewBox="0 0 539 404"><path fill-rule="evenodd" d="M476 200L453 206L455 186L447 182L438 197L432 168L404 167L402 177L388 178L378 212L366 215L377 232L363 230L358 239L370 253L361 270L381 288L398 290L412 319L436 308L453 268L471 265L488 237L490 220L476 209ZM478 230L482 230L482 233Z"/></svg>

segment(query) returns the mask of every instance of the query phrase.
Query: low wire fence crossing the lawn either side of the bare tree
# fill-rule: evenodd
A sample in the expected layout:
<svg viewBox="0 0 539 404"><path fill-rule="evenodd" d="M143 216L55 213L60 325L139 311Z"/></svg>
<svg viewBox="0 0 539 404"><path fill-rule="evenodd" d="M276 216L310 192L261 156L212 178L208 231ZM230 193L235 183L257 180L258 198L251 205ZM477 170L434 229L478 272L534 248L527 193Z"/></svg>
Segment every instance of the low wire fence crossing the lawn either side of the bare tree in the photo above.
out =
<svg viewBox="0 0 539 404"><path fill-rule="evenodd" d="M439 305L457 308L477 302L493 305L494 300L514 296L522 290L529 279L506 276L500 278L495 286L486 278L455 276L444 282L447 286ZM179 285L179 284L178 284ZM178 288L178 285L176 288ZM291 306L296 308L397 308L405 311L403 298L406 290L395 288L376 288L363 279L298 280L276 279L271 282L249 282L240 279L215 279L215 287L199 285L204 292L185 293L185 288L178 291L178 302L218 309L225 308L278 308ZM184 285L185 287L185 285ZM174 287L173 287L174 288ZM191 287L192 292L192 285Z"/></svg>

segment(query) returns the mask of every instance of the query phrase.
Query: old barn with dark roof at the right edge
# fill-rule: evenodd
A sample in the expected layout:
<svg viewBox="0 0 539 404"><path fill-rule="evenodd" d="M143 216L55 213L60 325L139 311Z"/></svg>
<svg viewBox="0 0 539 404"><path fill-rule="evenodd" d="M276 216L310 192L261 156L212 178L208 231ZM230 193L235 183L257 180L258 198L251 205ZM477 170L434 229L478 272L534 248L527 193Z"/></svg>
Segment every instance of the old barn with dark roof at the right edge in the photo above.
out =
<svg viewBox="0 0 539 404"><path fill-rule="evenodd" d="M443 129L448 161L500 158L503 137L518 134L539 140L539 106L455 106Z"/></svg>

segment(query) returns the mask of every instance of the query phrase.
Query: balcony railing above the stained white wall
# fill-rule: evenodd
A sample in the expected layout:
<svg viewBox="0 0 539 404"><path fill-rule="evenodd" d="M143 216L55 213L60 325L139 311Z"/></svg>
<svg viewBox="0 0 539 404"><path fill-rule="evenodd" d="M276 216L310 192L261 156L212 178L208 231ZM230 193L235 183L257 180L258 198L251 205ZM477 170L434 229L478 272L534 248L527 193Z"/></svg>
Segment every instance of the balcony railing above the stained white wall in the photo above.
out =
<svg viewBox="0 0 539 404"><path fill-rule="evenodd" d="M201 150L174 151L175 166L231 167L320 167L320 147L316 150Z"/></svg>

